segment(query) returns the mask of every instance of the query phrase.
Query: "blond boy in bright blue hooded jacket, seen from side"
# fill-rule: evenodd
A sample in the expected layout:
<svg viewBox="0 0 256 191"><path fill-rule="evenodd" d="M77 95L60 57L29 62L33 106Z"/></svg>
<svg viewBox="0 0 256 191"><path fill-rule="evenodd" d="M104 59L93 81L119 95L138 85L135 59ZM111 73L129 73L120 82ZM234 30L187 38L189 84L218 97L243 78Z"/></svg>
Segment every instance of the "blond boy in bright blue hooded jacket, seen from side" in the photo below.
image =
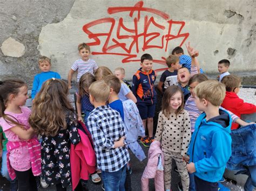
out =
<svg viewBox="0 0 256 191"><path fill-rule="evenodd" d="M194 173L198 191L218 190L218 181L231 155L232 121L227 111L219 109L225 91L225 86L215 80L201 82L194 89L197 108L204 112L196 121L187 171Z"/></svg>

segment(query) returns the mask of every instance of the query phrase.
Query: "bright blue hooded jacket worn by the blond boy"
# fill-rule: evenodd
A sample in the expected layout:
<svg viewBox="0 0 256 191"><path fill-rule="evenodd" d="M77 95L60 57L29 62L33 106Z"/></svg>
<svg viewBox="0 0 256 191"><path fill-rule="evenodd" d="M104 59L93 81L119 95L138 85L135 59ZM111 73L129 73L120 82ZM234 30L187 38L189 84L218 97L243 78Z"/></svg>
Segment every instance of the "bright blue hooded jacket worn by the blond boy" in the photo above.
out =
<svg viewBox="0 0 256 191"><path fill-rule="evenodd" d="M206 121L206 114L201 114L195 125L188 154L194 162L198 178L208 181L219 181L225 171L231 155L230 115L219 110L220 115Z"/></svg>

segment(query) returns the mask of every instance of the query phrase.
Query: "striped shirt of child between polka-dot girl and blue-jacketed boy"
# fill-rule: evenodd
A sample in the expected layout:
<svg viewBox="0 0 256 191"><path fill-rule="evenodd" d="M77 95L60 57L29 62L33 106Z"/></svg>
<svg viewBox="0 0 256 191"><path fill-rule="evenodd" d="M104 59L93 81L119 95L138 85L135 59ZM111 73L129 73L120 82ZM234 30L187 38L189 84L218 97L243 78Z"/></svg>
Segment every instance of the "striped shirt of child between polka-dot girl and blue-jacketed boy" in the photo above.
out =
<svg viewBox="0 0 256 191"><path fill-rule="evenodd" d="M194 98L192 96L188 97L188 99L185 103L184 109L188 111L188 115L190 116L190 122L191 122L191 132L194 132L194 124L196 123L198 116L202 113L197 108L196 98ZM228 111L223 107L220 107L220 109L227 111L228 114L230 114L233 122L235 122L235 121L237 121L237 119L239 119L239 117L234 115L231 111Z"/></svg>

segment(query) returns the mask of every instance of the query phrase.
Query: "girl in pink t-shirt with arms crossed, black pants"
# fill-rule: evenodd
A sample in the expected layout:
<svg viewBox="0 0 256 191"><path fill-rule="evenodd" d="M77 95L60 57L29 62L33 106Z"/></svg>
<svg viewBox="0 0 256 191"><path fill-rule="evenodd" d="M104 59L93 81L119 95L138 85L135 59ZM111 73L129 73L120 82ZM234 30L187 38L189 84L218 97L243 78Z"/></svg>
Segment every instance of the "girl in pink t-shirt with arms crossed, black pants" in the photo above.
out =
<svg viewBox="0 0 256 191"><path fill-rule="evenodd" d="M7 167L12 180L17 177L19 190L37 190L41 174L40 144L30 128L30 109L23 107L28 87L21 80L0 81L0 125L8 138Z"/></svg>

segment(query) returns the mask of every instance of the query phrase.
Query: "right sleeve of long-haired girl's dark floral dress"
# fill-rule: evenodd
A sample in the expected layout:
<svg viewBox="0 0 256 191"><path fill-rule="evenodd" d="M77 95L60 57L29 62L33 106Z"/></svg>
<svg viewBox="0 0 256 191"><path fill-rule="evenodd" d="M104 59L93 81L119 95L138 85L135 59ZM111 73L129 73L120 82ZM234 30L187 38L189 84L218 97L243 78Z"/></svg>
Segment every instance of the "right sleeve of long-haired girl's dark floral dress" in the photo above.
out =
<svg viewBox="0 0 256 191"><path fill-rule="evenodd" d="M77 129L77 121L75 119L75 116L69 116L69 119L68 119L68 132L69 132L69 139L70 139L70 142L73 144L73 145L76 145L80 142L80 136L78 134L78 129Z"/></svg>

